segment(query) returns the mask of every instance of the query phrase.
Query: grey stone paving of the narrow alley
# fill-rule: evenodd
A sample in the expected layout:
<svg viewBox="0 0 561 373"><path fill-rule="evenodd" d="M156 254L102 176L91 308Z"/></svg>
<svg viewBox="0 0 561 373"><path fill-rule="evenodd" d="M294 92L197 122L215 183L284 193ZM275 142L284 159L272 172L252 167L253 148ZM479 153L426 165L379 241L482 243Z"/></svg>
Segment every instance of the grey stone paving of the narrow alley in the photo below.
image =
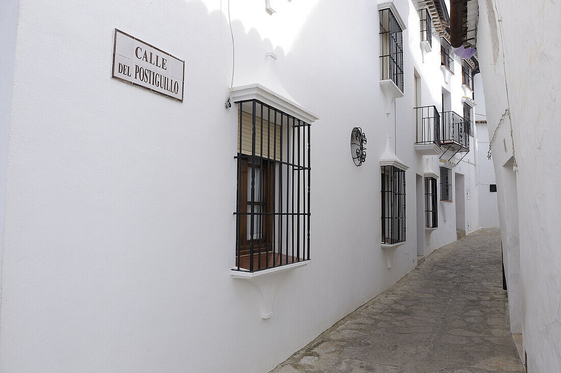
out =
<svg viewBox="0 0 561 373"><path fill-rule="evenodd" d="M523 372L502 285L500 231L435 250L274 373Z"/></svg>

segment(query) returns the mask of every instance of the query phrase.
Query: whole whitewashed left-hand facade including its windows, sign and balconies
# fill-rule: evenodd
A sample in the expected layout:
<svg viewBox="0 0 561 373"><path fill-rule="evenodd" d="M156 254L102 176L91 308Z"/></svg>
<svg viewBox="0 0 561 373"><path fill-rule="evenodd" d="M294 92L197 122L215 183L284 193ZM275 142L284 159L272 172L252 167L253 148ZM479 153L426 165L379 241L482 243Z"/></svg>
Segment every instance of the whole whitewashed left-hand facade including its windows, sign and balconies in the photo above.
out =
<svg viewBox="0 0 561 373"><path fill-rule="evenodd" d="M268 371L498 226L442 1L1 7L2 371Z"/></svg>

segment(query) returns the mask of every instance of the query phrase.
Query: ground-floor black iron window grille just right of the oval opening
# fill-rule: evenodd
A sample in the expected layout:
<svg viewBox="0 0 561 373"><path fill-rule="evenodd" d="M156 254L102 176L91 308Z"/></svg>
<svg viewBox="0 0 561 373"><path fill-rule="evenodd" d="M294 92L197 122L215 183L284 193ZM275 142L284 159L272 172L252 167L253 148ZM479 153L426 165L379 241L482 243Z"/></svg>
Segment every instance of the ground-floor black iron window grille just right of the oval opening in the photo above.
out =
<svg viewBox="0 0 561 373"><path fill-rule="evenodd" d="M405 241L405 171L381 167L381 243Z"/></svg>

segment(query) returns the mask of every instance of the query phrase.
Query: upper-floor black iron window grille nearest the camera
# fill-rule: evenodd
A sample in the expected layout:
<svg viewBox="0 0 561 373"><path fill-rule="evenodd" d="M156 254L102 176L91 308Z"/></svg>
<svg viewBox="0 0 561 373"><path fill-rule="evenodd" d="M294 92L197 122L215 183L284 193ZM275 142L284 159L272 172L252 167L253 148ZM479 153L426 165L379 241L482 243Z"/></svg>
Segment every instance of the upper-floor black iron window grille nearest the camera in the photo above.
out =
<svg viewBox="0 0 561 373"><path fill-rule="evenodd" d="M380 16L380 78L392 80L403 92L403 35L392 11L382 9Z"/></svg>

